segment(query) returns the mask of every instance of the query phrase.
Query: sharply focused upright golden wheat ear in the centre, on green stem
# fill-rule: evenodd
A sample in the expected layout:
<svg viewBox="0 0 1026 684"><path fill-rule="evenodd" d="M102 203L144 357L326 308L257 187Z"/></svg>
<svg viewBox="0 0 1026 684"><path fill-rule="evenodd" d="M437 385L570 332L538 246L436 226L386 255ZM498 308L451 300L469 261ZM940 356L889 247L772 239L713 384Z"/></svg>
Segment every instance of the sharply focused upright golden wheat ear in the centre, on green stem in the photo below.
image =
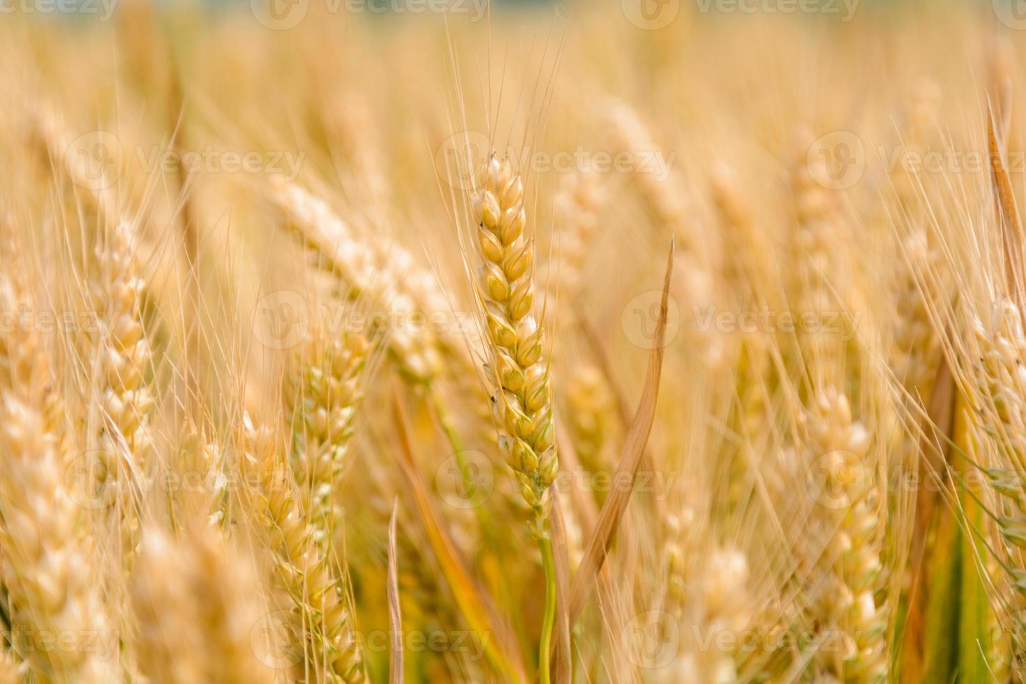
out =
<svg viewBox="0 0 1026 684"><path fill-rule="evenodd" d="M492 398L499 443L524 500L535 511L532 529L548 517L556 478L555 426L543 331L531 316L534 245L524 236L523 182L510 161L492 155L474 199L480 256L478 293L491 344Z"/></svg>

